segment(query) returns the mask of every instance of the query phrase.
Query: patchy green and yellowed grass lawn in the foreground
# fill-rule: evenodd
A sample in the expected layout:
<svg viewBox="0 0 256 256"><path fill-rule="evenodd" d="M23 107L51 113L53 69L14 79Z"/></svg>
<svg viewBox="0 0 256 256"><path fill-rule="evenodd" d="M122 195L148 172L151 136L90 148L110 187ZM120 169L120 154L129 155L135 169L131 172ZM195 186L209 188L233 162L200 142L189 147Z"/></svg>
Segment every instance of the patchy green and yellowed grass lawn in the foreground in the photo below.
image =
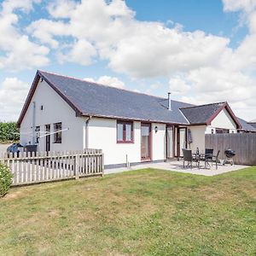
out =
<svg viewBox="0 0 256 256"><path fill-rule="evenodd" d="M11 189L0 255L256 255L256 167L142 170Z"/></svg>

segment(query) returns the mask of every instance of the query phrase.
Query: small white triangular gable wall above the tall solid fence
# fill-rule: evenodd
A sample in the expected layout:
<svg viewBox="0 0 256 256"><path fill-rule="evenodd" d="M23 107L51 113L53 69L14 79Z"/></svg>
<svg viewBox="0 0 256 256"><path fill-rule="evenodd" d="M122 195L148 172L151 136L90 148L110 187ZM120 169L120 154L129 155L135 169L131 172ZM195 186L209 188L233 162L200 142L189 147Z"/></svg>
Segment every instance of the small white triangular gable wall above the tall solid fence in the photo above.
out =
<svg viewBox="0 0 256 256"><path fill-rule="evenodd" d="M215 133L216 128L228 129L230 133L236 132L236 123L226 109L223 109L218 113L215 119L212 120L212 124L207 126L206 133L212 133L212 129Z"/></svg>

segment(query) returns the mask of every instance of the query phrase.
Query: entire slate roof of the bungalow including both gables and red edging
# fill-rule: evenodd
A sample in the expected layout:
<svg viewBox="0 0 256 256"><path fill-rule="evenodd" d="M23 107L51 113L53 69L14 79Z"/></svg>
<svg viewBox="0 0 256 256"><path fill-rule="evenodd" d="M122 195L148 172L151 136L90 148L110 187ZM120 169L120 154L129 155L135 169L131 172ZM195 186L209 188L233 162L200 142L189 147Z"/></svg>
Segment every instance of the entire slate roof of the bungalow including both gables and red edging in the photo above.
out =
<svg viewBox="0 0 256 256"><path fill-rule="evenodd" d="M172 111L169 111L166 98L38 71L26 98L26 103L20 113L18 125L20 125L26 113L40 78L44 79L76 111L78 116L200 125L209 124L215 114L218 114L225 107L230 111L232 117L236 119L227 102L195 106L172 100ZM239 122L236 119L236 123L238 127L240 125L245 127L245 130L253 127L242 119L239 119Z"/></svg>

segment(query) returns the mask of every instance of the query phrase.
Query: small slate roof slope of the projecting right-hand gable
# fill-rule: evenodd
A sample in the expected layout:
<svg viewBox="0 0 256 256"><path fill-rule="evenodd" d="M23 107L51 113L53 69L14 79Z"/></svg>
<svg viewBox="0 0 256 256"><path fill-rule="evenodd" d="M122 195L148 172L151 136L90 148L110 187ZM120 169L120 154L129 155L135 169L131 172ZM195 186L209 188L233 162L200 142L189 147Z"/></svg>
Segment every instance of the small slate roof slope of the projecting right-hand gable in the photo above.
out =
<svg viewBox="0 0 256 256"><path fill-rule="evenodd" d="M189 108L181 108L183 115L189 120L190 124L206 124L219 108L223 107L226 102L218 102Z"/></svg>

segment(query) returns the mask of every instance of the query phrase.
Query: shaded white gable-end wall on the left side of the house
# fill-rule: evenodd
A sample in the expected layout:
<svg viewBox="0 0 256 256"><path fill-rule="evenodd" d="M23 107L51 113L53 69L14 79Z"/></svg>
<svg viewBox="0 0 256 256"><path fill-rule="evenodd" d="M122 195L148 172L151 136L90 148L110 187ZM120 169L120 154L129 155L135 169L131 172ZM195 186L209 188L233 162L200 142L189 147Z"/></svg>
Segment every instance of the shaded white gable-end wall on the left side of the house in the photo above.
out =
<svg viewBox="0 0 256 256"><path fill-rule="evenodd" d="M73 108L69 107L67 102L49 84L45 81L38 82L32 102L36 102L36 126L40 125L40 131L45 131L44 125L48 124L51 131L54 131L54 124L58 122L62 123L62 129L69 129L62 132L62 143L54 143L54 135L51 135L51 151L83 149L85 119L77 118ZM20 143L22 145L32 143L32 102L20 124ZM44 110L41 110L41 105ZM40 139L38 150L45 150L45 137Z"/></svg>

